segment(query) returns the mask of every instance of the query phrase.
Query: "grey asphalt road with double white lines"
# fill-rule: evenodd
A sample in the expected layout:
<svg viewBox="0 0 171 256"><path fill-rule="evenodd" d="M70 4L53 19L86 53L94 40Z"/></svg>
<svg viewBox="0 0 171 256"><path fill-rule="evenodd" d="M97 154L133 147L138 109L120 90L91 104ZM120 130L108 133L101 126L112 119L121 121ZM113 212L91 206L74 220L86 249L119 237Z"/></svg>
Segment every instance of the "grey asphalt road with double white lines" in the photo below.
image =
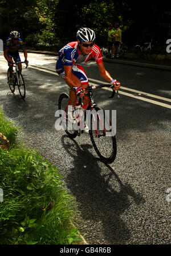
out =
<svg viewBox="0 0 171 256"><path fill-rule="evenodd" d="M22 60L23 60L23 55ZM96 90L103 109L116 109L117 156L101 163L89 135L71 140L55 130L55 112L67 85L55 73L56 57L28 53L23 76L26 98L7 85L7 63L0 56L0 106L22 127L26 143L38 149L63 175L78 202L79 229L88 244L170 243L170 108L171 74L166 70L105 62L123 85L120 97ZM103 80L94 61L84 66L89 81ZM93 80L92 80L93 79Z"/></svg>

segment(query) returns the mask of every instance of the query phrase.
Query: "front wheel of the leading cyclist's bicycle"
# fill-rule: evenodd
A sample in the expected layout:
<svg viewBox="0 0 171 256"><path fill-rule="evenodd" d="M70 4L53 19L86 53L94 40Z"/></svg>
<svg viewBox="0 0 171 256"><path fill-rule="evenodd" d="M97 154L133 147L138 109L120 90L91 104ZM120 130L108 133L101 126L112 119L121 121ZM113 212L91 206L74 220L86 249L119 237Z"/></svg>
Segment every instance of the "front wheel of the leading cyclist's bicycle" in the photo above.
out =
<svg viewBox="0 0 171 256"><path fill-rule="evenodd" d="M109 116L103 109L96 107L91 112L89 135L97 155L103 163L112 163L116 158L116 137L111 128Z"/></svg>

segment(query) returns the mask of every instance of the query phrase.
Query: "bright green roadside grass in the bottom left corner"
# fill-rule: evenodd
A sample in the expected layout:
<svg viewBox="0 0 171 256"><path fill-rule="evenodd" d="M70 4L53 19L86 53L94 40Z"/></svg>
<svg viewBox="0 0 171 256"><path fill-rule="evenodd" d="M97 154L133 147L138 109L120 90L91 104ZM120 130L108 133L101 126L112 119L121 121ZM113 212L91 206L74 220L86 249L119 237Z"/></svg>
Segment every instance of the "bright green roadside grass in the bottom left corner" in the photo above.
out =
<svg viewBox="0 0 171 256"><path fill-rule="evenodd" d="M68 245L79 243L79 212L63 177L34 149L17 141L19 128L0 109L0 132L10 141L0 148L0 243Z"/></svg>

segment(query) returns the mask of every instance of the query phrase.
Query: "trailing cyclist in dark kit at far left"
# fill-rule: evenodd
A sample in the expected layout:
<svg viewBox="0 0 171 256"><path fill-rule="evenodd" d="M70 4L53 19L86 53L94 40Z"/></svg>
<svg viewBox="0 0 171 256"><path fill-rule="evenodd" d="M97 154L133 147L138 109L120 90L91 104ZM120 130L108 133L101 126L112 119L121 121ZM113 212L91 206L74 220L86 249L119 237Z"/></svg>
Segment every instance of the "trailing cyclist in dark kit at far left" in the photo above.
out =
<svg viewBox="0 0 171 256"><path fill-rule="evenodd" d="M10 66L10 82L14 82L13 60L15 62L21 61L18 50L23 50L25 56L25 63L28 65L25 44L20 38L20 34L18 31L11 31L10 38L6 40L4 48L5 49L3 56L6 58L8 65ZM22 72L22 64L18 64L18 67L19 71Z"/></svg>

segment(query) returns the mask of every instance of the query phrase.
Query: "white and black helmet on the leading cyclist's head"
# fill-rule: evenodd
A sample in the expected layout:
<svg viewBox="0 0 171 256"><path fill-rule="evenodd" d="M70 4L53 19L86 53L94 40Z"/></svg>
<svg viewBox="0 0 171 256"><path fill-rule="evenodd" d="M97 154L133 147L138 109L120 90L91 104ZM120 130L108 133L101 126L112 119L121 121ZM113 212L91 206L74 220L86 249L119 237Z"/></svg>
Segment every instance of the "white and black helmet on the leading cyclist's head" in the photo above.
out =
<svg viewBox="0 0 171 256"><path fill-rule="evenodd" d="M80 42L94 42L96 36L92 29L81 27L76 33L76 38L78 38Z"/></svg>

